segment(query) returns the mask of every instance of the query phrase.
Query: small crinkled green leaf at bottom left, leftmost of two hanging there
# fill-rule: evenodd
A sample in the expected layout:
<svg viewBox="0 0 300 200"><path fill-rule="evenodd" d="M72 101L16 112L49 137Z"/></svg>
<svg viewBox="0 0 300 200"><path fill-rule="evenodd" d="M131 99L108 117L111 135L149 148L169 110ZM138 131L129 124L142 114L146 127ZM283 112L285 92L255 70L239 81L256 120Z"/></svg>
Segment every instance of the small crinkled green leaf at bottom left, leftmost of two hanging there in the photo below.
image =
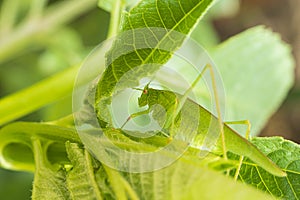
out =
<svg viewBox="0 0 300 200"><path fill-rule="evenodd" d="M65 184L65 171L54 168L47 161L45 146L40 140L33 141L35 174L33 182L32 199L69 199Z"/></svg>

